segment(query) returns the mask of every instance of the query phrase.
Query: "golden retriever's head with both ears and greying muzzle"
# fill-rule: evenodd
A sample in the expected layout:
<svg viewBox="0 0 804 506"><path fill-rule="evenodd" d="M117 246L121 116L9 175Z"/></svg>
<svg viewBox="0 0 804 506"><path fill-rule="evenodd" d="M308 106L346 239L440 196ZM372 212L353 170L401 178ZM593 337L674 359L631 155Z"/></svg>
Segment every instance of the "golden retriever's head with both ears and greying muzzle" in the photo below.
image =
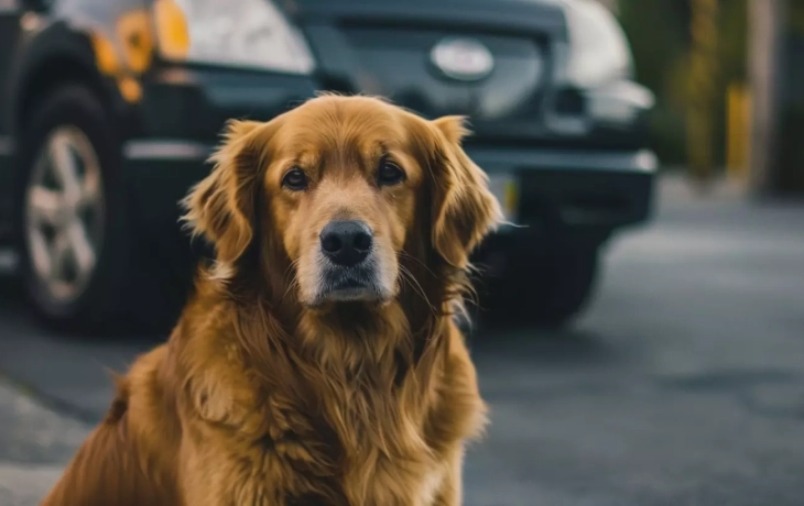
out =
<svg viewBox="0 0 804 506"><path fill-rule="evenodd" d="M465 134L461 118L426 121L368 97L232 122L184 202L186 220L216 246L220 276L237 276L257 248L263 274L274 271L305 307L388 302L410 274L401 260L464 270L499 221Z"/></svg>

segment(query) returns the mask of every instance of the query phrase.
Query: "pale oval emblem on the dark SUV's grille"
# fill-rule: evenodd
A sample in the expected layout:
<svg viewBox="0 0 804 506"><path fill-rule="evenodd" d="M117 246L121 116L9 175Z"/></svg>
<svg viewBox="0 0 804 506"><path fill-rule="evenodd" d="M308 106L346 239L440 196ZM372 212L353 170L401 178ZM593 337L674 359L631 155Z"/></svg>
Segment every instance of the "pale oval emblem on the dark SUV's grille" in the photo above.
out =
<svg viewBox="0 0 804 506"><path fill-rule="evenodd" d="M433 46L430 61L445 76L457 80L479 80L495 68L491 52L474 38L444 38Z"/></svg>

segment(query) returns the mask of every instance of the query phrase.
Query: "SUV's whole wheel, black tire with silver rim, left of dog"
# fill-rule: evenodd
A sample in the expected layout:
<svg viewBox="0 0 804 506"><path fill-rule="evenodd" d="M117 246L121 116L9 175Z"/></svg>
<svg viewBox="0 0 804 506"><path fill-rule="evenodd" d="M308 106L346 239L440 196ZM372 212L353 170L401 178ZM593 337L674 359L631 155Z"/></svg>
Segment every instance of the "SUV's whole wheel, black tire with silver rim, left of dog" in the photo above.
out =
<svg viewBox="0 0 804 506"><path fill-rule="evenodd" d="M137 290L120 141L80 85L37 101L22 129L17 245L28 298L59 329L124 317Z"/></svg>

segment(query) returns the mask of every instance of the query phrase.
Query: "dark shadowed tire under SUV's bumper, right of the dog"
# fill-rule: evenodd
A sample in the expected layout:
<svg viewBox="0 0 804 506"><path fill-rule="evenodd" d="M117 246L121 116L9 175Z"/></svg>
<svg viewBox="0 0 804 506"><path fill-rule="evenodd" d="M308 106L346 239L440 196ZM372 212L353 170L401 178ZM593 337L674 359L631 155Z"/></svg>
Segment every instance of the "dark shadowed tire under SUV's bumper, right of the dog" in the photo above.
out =
<svg viewBox="0 0 804 506"><path fill-rule="evenodd" d="M488 284L489 319L501 326L557 329L589 302L598 279L598 244L562 244L506 260Z"/></svg>

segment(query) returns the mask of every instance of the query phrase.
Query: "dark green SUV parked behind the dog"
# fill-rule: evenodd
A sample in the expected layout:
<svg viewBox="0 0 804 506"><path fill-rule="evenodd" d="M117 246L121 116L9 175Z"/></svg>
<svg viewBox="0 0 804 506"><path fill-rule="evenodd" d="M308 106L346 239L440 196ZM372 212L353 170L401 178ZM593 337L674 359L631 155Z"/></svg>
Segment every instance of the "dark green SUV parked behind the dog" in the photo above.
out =
<svg viewBox="0 0 804 506"><path fill-rule="evenodd" d="M199 253L177 201L230 118L318 90L466 114L504 206L488 307L559 324L645 220L652 96L594 0L0 0L0 235L59 326L172 314Z"/></svg>

